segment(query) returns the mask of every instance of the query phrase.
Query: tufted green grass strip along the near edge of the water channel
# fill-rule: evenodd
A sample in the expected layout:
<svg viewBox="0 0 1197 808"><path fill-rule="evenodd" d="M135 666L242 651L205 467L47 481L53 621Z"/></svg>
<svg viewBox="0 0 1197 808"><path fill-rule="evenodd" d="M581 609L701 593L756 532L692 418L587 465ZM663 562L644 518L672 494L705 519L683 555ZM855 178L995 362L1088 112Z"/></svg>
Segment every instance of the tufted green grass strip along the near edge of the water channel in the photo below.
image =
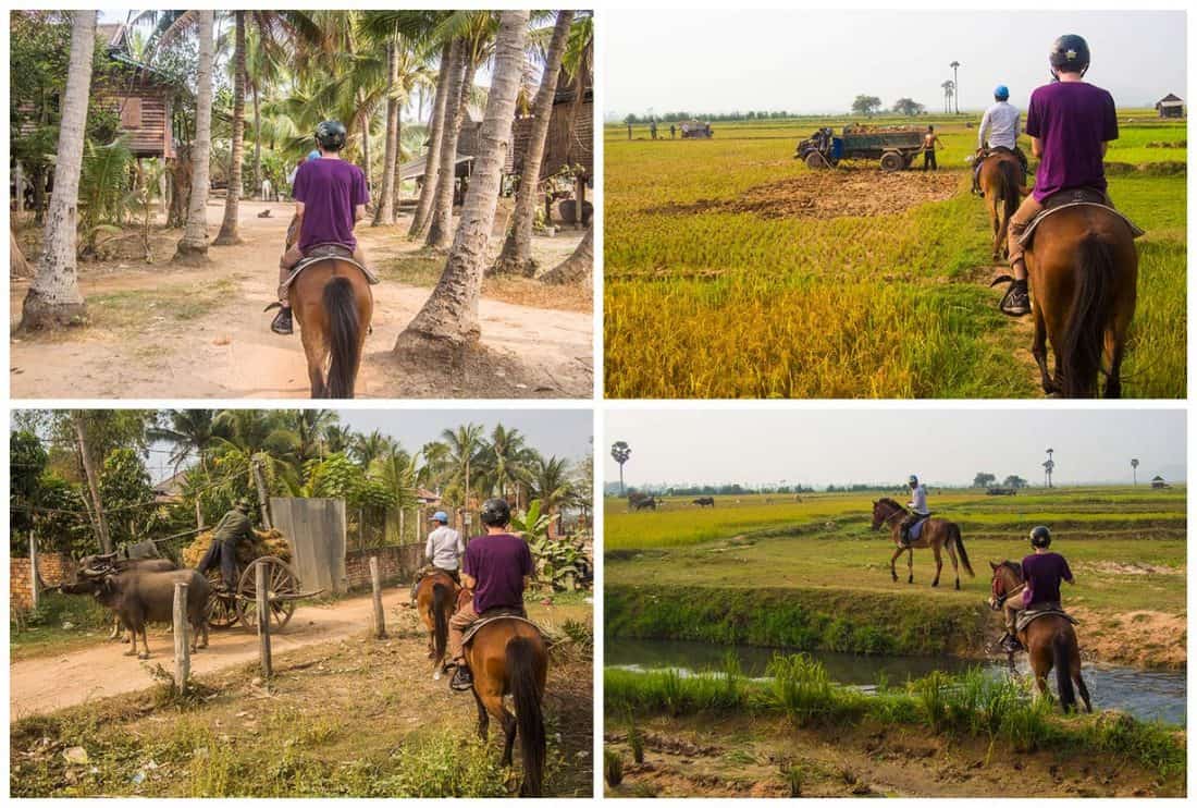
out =
<svg viewBox="0 0 1197 808"><path fill-rule="evenodd" d="M717 675L679 676L673 672L604 672L607 731L630 730L652 716L751 715L784 718L790 730L807 729L849 737L905 729L988 745L984 765L1010 753L1050 751L1096 763L1116 758L1149 772L1168 790L1184 788L1185 735L1126 715L1063 716L1051 701L1031 699L1021 682L994 680L980 670L952 678L932 674L901 688L864 694L831 682L818 662L776 656L767 681L748 680L729 669ZM626 737L626 736L625 736ZM712 739L715 740L715 739Z"/></svg>

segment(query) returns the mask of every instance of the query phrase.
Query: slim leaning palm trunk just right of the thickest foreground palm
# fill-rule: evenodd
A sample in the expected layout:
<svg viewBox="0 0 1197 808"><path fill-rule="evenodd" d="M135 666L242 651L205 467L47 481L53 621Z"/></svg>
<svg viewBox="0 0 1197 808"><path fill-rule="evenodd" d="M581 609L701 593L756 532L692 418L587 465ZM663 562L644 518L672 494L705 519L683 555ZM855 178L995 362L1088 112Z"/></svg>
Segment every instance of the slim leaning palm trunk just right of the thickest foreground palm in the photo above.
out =
<svg viewBox="0 0 1197 808"><path fill-rule="evenodd" d="M528 140L523 166L519 169L519 190L516 193L515 211L511 213L511 229L503 244L503 251L494 262L497 273L519 273L528 278L536 274L536 262L531 257L531 225L536 218L536 200L541 196L540 166L545 159L545 141L548 139L548 123L553 116L561 56L572 24L572 11L557 12L557 26L553 29L553 38L545 56L545 74L540 79L540 89L533 104L531 136Z"/></svg>

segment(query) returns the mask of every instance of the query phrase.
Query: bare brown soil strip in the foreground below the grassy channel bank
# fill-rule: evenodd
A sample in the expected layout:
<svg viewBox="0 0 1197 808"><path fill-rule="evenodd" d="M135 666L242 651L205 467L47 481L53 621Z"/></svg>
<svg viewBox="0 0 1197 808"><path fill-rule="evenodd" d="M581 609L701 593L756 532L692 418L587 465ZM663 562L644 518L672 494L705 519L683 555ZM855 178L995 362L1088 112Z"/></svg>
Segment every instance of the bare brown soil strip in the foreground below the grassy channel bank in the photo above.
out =
<svg viewBox="0 0 1197 808"><path fill-rule="evenodd" d="M801 772L810 797L1146 797L1183 796L1114 758L1100 761L1039 752L1014 755L988 743L876 727L797 730L779 718L658 718L642 727L643 764L626 734L608 734L624 754L624 782L609 796L785 797L784 771Z"/></svg>

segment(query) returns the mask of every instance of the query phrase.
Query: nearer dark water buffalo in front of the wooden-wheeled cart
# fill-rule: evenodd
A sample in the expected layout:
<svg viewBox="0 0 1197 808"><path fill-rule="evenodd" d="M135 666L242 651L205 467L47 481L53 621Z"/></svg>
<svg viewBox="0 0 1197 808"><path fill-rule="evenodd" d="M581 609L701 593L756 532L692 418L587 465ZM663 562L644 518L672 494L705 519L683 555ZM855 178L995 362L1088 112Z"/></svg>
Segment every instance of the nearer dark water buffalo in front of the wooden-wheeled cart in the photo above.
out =
<svg viewBox="0 0 1197 808"><path fill-rule="evenodd" d="M207 648L211 587L207 578L195 570L150 572L134 566L123 571L91 572L85 569L80 571L75 583L63 584L61 589L69 595L91 595L113 609L133 636L133 648L126 651L126 656L136 655L147 660L150 643L146 639L146 624L174 620L176 582L188 584L187 621L192 626L192 650ZM139 634L144 648L141 654L138 654Z"/></svg>

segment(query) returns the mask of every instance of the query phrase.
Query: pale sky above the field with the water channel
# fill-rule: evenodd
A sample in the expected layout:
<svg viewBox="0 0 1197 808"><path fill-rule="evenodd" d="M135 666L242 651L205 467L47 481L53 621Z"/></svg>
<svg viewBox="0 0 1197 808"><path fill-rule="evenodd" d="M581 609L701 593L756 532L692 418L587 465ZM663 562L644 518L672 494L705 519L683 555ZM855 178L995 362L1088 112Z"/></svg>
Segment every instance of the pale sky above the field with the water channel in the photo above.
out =
<svg viewBox="0 0 1197 808"><path fill-rule="evenodd" d="M626 441L630 485L924 482L960 485L977 472L1043 479L1056 450L1058 485L1185 475L1179 411L618 411L607 412L603 475L619 479L610 444Z"/></svg>

